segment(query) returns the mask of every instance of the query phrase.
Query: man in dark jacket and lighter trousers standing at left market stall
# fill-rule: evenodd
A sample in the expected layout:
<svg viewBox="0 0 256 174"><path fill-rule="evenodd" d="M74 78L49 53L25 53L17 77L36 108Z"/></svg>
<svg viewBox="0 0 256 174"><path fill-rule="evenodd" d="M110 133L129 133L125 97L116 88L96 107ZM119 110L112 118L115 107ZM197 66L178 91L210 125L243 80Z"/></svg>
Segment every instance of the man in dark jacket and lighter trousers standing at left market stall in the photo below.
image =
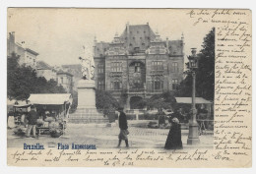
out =
<svg viewBox="0 0 256 174"><path fill-rule="evenodd" d="M31 137L31 133L32 133L32 138L35 138L35 126L36 126L37 119L38 119L38 114L35 111L35 107L32 105L31 111L28 113L29 126L26 132L27 138Z"/></svg>

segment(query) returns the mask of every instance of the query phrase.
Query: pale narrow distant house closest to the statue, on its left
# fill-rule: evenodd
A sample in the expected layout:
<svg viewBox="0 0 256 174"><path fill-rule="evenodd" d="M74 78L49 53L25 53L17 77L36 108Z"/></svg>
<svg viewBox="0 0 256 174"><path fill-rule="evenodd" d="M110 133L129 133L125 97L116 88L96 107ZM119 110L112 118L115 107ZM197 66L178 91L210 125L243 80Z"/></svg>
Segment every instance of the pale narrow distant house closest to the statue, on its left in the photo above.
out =
<svg viewBox="0 0 256 174"><path fill-rule="evenodd" d="M73 90L73 75L60 69L57 72L57 83L64 87L68 93L71 93Z"/></svg>

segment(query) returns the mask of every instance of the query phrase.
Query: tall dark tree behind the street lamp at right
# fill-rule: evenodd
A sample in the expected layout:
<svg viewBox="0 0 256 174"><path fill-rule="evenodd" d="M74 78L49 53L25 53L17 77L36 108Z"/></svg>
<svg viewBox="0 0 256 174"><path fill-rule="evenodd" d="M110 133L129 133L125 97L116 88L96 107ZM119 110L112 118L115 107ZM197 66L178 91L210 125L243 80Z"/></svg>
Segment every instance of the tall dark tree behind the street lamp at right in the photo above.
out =
<svg viewBox="0 0 256 174"><path fill-rule="evenodd" d="M199 65L196 71L196 96L214 100L215 89L215 29L205 36L203 49L198 54ZM186 64L188 65L188 64ZM180 83L177 95L191 97L192 76L187 71L186 78Z"/></svg>

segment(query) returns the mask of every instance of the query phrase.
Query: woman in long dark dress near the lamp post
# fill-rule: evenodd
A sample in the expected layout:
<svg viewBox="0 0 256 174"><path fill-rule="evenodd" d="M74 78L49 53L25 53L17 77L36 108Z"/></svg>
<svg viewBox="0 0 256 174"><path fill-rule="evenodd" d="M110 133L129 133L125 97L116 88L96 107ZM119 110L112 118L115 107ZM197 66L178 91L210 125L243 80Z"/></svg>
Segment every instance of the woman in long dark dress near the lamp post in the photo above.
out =
<svg viewBox="0 0 256 174"><path fill-rule="evenodd" d="M179 120L176 117L171 117L170 121L170 129L169 133L164 145L165 149L182 149L182 141L181 141L181 128L179 124Z"/></svg>

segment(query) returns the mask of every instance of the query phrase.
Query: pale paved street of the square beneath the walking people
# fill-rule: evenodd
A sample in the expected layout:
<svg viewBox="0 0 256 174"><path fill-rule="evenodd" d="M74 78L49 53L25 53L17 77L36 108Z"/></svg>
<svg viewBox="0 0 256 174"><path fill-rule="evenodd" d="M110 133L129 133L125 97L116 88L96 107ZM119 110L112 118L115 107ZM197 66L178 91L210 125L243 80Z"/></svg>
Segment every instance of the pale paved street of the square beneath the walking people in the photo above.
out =
<svg viewBox="0 0 256 174"><path fill-rule="evenodd" d="M162 148L165 144L168 129L149 129L129 125L129 143L132 148L135 147L154 147ZM204 146L211 148L213 146L213 132L200 136L201 144L197 146L186 145L188 130L182 130L182 142L184 148ZM41 135L37 139L21 138L13 134L13 130L8 130L8 146L22 147L27 144L42 144L44 146L56 146L58 143L71 145L96 145L97 148L112 148L117 145L119 128L113 127L90 127L84 124L69 124L66 134L60 138L51 138L49 135ZM124 146L124 143L123 145Z"/></svg>

